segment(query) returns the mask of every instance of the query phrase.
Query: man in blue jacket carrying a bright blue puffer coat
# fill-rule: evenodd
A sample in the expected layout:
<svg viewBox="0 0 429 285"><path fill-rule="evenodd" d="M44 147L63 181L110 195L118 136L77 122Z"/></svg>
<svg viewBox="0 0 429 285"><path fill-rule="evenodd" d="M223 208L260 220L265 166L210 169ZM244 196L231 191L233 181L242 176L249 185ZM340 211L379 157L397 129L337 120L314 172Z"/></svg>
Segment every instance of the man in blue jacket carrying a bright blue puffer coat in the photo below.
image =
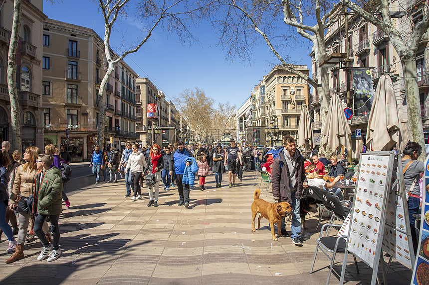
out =
<svg viewBox="0 0 429 285"><path fill-rule="evenodd" d="M169 163L170 176L173 175L173 169L175 171L177 190L179 191L179 206L185 204L185 208L189 207L189 184L183 184L182 179L185 167L190 166L190 163L186 162L189 157L192 155L184 147L183 141L178 141L177 150L171 154Z"/></svg>

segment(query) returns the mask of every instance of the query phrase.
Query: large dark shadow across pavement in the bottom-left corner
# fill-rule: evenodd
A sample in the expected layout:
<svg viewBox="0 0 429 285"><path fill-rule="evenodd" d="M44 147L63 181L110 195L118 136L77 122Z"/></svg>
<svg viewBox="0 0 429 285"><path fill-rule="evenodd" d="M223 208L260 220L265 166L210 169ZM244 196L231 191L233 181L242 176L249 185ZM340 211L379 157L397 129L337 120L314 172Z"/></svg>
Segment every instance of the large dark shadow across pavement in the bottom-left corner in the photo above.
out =
<svg viewBox="0 0 429 285"><path fill-rule="evenodd" d="M33 263L32 260L38 254L25 256L24 260L33 256L32 260L29 261L30 263L23 267L16 267L16 271L0 280L0 284L60 285L77 270L91 270L91 268L95 268L94 266L97 265L103 266L113 264L119 256L121 258L131 258L131 254L129 253L135 252L136 248L143 244L152 242L152 240L146 240L126 247L126 245L131 242L131 239L111 239L117 235L119 235L119 233L110 233L106 235L81 234L73 237L61 238L60 242L61 245L63 245L61 246L62 254L57 261L52 263L35 261L35 263ZM126 249L124 251L125 247ZM76 257L71 260L70 257L73 255ZM79 272L75 274L76 275L73 277L76 277Z"/></svg>

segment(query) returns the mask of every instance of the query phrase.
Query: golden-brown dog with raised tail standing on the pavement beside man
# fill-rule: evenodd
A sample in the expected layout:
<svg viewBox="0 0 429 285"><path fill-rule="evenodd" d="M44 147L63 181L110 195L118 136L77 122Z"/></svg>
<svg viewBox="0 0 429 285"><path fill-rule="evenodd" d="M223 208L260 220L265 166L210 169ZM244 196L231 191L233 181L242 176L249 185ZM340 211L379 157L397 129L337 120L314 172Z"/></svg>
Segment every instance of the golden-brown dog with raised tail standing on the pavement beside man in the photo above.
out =
<svg viewBox="0 0 429 285"><path fill-rule="evenodd" d="M272 240L277 240L274 234L274 223L277 223L277 232L278 236L282 237L280 232L280 222L281 218L290 215L293 212L292 207L288 202L280 202L280 203L268 203L265 200L259 199L259 195L261 194L261 190L256 189L253 193L253 203L252 203L252 231L256 231L255 229L255 218L256 214L259 213L258 217L258 229L261 228L261 219L262 217L269 220L269 225L271 227L271 235Z"/></svg>

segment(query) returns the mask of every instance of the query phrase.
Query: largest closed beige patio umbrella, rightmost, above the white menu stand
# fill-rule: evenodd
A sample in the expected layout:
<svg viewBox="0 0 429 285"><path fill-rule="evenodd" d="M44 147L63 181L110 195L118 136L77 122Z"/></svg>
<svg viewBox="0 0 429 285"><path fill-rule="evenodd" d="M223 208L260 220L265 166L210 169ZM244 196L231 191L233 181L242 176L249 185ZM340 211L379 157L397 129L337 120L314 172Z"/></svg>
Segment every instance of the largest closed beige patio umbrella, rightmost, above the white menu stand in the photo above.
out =
<svg viewBox="0 0 429 285"><path fill-rule="evenodd" d="M380 77L367 126L367 147L375 151L402 148L402 125L392 79Z"/></svg>

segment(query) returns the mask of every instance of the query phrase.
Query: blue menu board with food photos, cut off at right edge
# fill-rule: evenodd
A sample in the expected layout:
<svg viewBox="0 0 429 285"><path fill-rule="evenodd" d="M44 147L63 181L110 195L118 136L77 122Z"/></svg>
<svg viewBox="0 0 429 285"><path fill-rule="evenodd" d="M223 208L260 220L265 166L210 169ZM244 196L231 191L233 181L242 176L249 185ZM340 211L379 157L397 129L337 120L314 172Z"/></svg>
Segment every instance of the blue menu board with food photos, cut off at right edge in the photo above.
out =
<svg viewBox="0 0 429 285"><path fill-rule="evenodd" d="M429 284L429 158L425 161L423 177L422 220L420 222L419 247L417 249L412 285Z"/></svg>

